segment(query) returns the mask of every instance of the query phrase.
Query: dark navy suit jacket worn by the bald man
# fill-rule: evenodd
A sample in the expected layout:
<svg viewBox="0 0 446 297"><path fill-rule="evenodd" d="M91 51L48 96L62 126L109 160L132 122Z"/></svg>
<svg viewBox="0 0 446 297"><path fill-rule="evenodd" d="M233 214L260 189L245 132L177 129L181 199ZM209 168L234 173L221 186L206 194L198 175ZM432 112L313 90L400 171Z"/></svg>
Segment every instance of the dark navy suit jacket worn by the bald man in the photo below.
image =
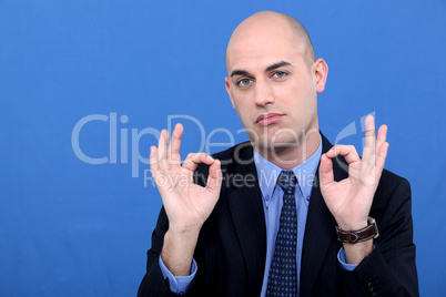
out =
<svg viewBox="0 0 446 297"><path fill-rule="evenodd" d="M331 146L323 136L323 152ZM260 296L266 228L253 148L243 143L214 157L222 161L224 181L220 199L199 236L194 253L197 273L187 295ZM346 178L344 158L333 163L335 180ZM203 184L206 176L207 166L199 166L195 182ZM384 171L369 215L379 229L375 248L354 272L346 272L337 260L342 244L336 238L336 222L316 176L303 243L301 297L418 296L408 182ZM139 296L176 296L169 290L158 264L168 228L168 217L161 209Z"/></svg>

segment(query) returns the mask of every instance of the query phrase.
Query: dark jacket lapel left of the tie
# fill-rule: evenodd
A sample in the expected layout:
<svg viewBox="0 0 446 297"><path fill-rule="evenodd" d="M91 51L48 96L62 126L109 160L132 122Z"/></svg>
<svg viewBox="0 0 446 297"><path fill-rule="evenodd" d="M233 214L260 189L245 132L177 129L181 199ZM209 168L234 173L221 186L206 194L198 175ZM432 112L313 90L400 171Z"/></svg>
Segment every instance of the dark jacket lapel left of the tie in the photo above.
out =
<svg viewBox="0 0 446 297"><path fill-rule="evenodd" d="M234 164L234 175L230 177L232 186L227 204L246 264L250 295L259 296L266 257L265 217L252 147L243 148L240 157L242 162ZM250 182L240 182L241 178Z"/></svg>

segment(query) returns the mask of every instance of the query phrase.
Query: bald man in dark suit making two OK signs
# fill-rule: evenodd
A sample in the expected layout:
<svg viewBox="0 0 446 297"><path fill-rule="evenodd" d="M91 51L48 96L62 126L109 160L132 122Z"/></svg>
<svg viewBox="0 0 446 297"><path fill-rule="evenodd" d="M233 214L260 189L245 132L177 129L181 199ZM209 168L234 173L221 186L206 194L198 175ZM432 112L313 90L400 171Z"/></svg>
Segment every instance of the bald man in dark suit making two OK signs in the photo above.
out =
<svg viewBox="0 0 446 297"><path fill-rule="evenodd" d="M150 158L163 208L139 296L418 295L409 185L383 170L387 127L375 136L366 119L362 158L320 134L328 68L302 24L250 17L226 69L250 142L180 165L183 127L169 146L161 133Z"/></svg>

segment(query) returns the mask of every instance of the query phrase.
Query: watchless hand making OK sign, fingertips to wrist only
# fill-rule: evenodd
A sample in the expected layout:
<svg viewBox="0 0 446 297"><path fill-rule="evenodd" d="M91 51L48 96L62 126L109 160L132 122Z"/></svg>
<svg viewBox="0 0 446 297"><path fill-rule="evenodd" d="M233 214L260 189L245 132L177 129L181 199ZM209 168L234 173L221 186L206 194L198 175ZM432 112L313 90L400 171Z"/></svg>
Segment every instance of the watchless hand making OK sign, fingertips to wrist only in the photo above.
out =
<svg viewBox="0 0 446 297"><path fill-rule="evenodd" d="M159 146L150 150L150 166L163 199L170 229L200 229L219 199L222 183L220 161L205 153L189 154L181 165L180 145L183 126L176 124L168 147L169 133L163 130ZM205 187L193 183L200 163L210 165Z"/></svg>

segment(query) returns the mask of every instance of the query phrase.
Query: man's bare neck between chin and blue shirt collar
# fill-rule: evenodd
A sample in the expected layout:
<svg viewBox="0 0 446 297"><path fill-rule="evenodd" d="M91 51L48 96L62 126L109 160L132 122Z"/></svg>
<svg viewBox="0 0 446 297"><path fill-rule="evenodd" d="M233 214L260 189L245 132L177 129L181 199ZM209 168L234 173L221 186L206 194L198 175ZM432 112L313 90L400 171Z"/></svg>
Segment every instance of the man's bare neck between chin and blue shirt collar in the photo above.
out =
<svg viewBox="0 0 446 297"><path fill-rule="evenodd" d="M298 143L286 147L270 147L263 150L253 144L253 147L267 161L283 170L292 170L304 163L320 146L320 132L316 129L310 134L302 135Z"/></svg>

